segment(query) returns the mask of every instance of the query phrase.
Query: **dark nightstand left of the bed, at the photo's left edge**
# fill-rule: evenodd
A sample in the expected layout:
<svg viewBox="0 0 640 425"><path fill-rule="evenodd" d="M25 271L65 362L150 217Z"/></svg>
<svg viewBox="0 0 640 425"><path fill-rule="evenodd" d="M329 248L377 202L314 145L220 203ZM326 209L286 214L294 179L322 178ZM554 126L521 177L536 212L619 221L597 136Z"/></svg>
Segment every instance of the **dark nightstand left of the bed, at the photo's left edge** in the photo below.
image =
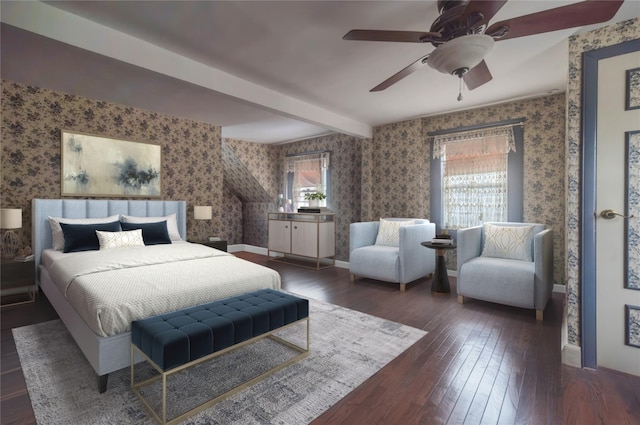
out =
<svg viewBox="0 0 640 425"><path fill-rule="evenodd" d="M0 305L34 302L36 298L35 262L2 259L0 263Z"/></svg>

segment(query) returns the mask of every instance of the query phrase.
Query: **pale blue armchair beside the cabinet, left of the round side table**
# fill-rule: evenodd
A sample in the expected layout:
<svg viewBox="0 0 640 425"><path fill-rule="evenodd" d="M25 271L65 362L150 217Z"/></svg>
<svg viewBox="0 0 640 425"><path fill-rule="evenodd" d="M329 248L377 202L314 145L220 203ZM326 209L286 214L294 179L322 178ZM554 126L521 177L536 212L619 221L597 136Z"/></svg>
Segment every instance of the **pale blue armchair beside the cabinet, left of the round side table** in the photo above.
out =
<svg viewBox="0 0 640 425"><path fill-rule="evenodd" d="M436 226L426 219L387 218L351 223L349 271L356 276L400 284L425 277L435 270L435 251L421 242L430 241Z"/></svg>

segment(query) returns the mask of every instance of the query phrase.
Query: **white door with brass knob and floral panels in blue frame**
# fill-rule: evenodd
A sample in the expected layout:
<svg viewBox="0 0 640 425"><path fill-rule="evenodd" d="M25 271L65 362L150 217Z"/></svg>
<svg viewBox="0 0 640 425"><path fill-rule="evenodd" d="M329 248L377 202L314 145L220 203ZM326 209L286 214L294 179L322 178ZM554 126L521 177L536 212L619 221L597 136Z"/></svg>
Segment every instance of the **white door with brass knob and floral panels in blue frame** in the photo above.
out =
<svg viewBox="0 0 640 425"><path fill-rule="evenodd" d="M628 196L640 193L640 108L627 105L633 89L626 84L626 74L634 69L640 73L640 52L598 62L596 358L598 367L640 376L640 283L632 277L640 273L640 247L634 242L640 235L640 201ZM638 94L640 89L635 90ZM631 101L640 103L638 97L631 96ZM627 214L635 217L624 217Z"/></svg>

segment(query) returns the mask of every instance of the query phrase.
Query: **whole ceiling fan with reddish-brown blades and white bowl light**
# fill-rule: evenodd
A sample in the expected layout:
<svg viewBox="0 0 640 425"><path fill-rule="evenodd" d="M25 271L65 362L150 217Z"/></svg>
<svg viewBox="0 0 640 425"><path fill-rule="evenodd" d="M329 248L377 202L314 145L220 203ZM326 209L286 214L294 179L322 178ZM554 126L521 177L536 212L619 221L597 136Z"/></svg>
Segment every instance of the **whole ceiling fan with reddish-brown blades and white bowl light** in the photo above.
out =
<svg viewBox="0 0 640 425"><path fill-rule="evenodd" d="M491 81L485 56L494 41L605 22L613 18L624 0L585 0L489 25L507 0L438 0L440 16L429 32L351 30L344 40L431 43L435 50L378 84L381 91L423 65L460 78L469 90ZM462 100L462 95L458 96Z"/></svg>

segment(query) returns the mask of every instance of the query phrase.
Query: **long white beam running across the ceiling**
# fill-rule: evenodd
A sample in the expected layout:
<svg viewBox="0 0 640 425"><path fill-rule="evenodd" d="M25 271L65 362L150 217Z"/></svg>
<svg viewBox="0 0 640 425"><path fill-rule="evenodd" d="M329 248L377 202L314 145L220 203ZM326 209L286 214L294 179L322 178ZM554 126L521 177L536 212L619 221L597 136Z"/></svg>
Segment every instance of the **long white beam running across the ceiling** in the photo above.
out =
<svg viewBox="0 0 640 425"><path fill-rule="evenodd" d="M69 45L250 102L274 113L348 134L371 138L370 125L336 114L53 6L3 2L0 19Z"/></svg>

